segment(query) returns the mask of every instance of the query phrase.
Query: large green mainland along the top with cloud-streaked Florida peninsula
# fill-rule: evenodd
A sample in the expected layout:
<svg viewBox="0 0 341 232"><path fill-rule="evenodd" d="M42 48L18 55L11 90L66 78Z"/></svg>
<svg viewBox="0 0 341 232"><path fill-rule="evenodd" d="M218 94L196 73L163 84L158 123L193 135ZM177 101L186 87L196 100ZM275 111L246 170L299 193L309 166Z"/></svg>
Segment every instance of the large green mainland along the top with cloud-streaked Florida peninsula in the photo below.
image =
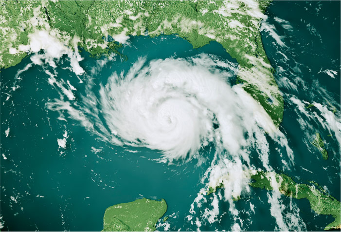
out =
<svg viewBox="0 0 341 232"><path fill-rule="evenodd" d="M0 1L0 68L16 65L30 50L30 35L47 31L93 57L118 53L129 36L178 35L194 48L220 43L239 64L238 83L276 126L283 98L264 51L260 22L269 1ZM114 40L112 41L113 38Z"/></svg>

